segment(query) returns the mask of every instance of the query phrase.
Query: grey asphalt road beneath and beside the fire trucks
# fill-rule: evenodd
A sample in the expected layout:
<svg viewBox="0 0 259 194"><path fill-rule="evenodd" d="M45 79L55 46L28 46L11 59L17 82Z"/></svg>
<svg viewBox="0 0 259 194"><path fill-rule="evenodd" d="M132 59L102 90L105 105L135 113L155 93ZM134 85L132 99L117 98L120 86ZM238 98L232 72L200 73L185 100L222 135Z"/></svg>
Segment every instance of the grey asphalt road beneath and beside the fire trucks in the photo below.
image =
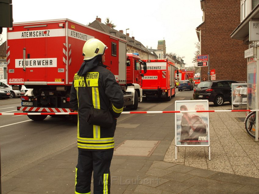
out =
<svg viewBox="0 0 259 194"><path fill-rule="evenodd" d="M165 105L173 104L179 97L190 100L192 94L193 91L176 90L176 97L172 97L171 101L148 100L139 103L137 111L148 111L151 108L161 111ZM16 107L20 103L20 98L1 99L0 112L19 112ZM124 111L132 110L125 108ZM122 114L117 123L134 116L137 115ZM27 115L1 115L0 121L1 177L76 145L76 124L66 118L48 116L43 121L35 122Z"/></svg>

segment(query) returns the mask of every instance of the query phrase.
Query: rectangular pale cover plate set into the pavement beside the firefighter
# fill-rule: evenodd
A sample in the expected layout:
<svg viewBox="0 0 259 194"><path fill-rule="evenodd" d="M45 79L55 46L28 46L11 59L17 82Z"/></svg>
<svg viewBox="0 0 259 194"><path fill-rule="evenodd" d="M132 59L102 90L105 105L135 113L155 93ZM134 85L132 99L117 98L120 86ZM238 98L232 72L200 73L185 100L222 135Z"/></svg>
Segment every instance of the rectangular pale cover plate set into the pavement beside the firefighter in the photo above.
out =
<svg viewBox="0 0 259 194"><path fill-rule="evenodd" d="M117 156L151 156L160 141L126 140L115 148Z"/></svg>

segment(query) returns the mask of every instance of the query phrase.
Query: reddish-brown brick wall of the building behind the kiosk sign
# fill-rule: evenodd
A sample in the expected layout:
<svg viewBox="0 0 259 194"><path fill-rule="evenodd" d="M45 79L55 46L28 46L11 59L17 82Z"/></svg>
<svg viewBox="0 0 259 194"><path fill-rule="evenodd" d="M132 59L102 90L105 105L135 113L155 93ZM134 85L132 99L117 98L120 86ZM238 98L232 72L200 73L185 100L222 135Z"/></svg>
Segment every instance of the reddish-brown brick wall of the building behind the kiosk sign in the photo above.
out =
<svg viewBox="0 0 259 194"><path fill-rule="evenodd" d="M240 23L240 0L201 0L203 23L197 27L201 55L209 55L210 70L216 79L247 82L248 45L230 34ZM208 79L208 67L201 67L201 77Z"/></svg>

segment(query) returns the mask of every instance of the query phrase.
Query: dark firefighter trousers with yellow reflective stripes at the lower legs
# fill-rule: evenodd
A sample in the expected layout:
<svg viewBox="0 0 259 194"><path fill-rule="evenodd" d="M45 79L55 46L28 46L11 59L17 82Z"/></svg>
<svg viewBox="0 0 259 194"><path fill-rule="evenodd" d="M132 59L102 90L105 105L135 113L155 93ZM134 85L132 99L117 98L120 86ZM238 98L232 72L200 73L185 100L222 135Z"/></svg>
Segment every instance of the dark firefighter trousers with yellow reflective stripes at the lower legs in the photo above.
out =
<svg viewBox="0 0 259 194"><path fill-rule="evenodd" d="M76 194L90 194L94 172L94 194L110 194L110 165L113 149L106 151L78 150L76 165Z"/></svg>

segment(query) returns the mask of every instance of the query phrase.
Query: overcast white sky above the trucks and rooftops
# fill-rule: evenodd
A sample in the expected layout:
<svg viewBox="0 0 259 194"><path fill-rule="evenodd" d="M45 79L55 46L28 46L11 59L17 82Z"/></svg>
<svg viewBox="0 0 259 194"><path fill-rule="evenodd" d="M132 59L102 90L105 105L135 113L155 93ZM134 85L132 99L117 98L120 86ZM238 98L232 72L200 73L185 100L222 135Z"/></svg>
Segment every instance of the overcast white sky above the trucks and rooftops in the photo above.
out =
<svg viewBox="0 0 259 194"><path fill-rule="evenodd" d="M102 23L108 17L115 30L135 37L144 46L156 49L165 40L166 52L185 56L186 66L198 42L195 28L202 23L200 0L12 0L13 22L68 18L87 25L98 16ZM6 28L3 29L6 40Z"/></svg>

